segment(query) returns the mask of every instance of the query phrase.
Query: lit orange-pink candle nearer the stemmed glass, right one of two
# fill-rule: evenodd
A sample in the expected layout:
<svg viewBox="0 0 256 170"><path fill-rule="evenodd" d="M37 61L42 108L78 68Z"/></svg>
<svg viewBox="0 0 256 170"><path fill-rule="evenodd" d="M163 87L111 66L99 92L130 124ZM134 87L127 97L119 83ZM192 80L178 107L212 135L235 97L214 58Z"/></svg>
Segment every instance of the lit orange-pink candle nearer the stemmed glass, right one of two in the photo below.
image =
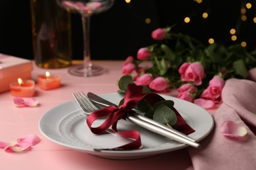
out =
<svg viewBox="0 0 256 170"><path fill-rule="evenodd" d="M50 73L47 71L45 72L45 75L37 76L37 84L39 88L43 90L51 90L54 88L59 88L60 76L59 75L51 76Z"/></svg>

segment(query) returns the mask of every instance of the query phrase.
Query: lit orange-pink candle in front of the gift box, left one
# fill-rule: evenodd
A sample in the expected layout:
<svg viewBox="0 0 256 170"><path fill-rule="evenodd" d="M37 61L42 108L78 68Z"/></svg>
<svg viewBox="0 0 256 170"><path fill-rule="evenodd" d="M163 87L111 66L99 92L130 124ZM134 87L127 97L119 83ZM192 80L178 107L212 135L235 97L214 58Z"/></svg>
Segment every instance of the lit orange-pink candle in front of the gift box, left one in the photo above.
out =
<svg viewBox="0 0 256 170"><path fill-rule="evenodd" d="M16 97L32 97L35 95L35 82L33 80L22 80L10 84L11 94Z"/></svg>

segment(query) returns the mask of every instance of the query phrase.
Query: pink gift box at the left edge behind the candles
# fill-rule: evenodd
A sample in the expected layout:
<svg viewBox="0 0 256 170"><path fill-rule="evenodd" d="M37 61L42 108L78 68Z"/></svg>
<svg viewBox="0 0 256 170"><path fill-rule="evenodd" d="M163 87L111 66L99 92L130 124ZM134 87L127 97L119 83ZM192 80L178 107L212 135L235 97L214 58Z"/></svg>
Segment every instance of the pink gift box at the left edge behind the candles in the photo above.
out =
<svg viewBox="0 0 256 170"><path fill-rule="evenodd" d="M0 54L0 93L10 90L10 83L31 79L33 63L29 59Z"/></svg>

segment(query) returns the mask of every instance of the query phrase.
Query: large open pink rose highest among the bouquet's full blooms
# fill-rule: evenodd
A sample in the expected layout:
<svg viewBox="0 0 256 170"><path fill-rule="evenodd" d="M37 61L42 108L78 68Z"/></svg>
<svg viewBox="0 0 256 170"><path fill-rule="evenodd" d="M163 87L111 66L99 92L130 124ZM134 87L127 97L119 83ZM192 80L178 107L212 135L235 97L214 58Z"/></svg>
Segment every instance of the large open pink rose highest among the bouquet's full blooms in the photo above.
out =
<svg viewBox="0 0 256 170"><path fill-rule="evenodd" d="M205 78L203 66L198 63L183 63L179 68L181 80L183 82L194 82L196 85L202 84L202 79Z"/></svg>

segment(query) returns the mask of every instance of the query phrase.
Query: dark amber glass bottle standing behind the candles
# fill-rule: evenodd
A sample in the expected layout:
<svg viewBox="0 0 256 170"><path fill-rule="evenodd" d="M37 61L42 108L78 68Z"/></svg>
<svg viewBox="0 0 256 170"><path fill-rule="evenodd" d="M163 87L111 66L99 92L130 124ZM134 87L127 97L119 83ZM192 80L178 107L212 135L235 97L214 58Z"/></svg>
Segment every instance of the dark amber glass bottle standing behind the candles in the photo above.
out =
<svg viewBox="0 0 256 170"><path fill-rule="evenodd" d="M33 55L37 66L68 67L72 62L70 14L55 0L31 0Z"/></svg>

